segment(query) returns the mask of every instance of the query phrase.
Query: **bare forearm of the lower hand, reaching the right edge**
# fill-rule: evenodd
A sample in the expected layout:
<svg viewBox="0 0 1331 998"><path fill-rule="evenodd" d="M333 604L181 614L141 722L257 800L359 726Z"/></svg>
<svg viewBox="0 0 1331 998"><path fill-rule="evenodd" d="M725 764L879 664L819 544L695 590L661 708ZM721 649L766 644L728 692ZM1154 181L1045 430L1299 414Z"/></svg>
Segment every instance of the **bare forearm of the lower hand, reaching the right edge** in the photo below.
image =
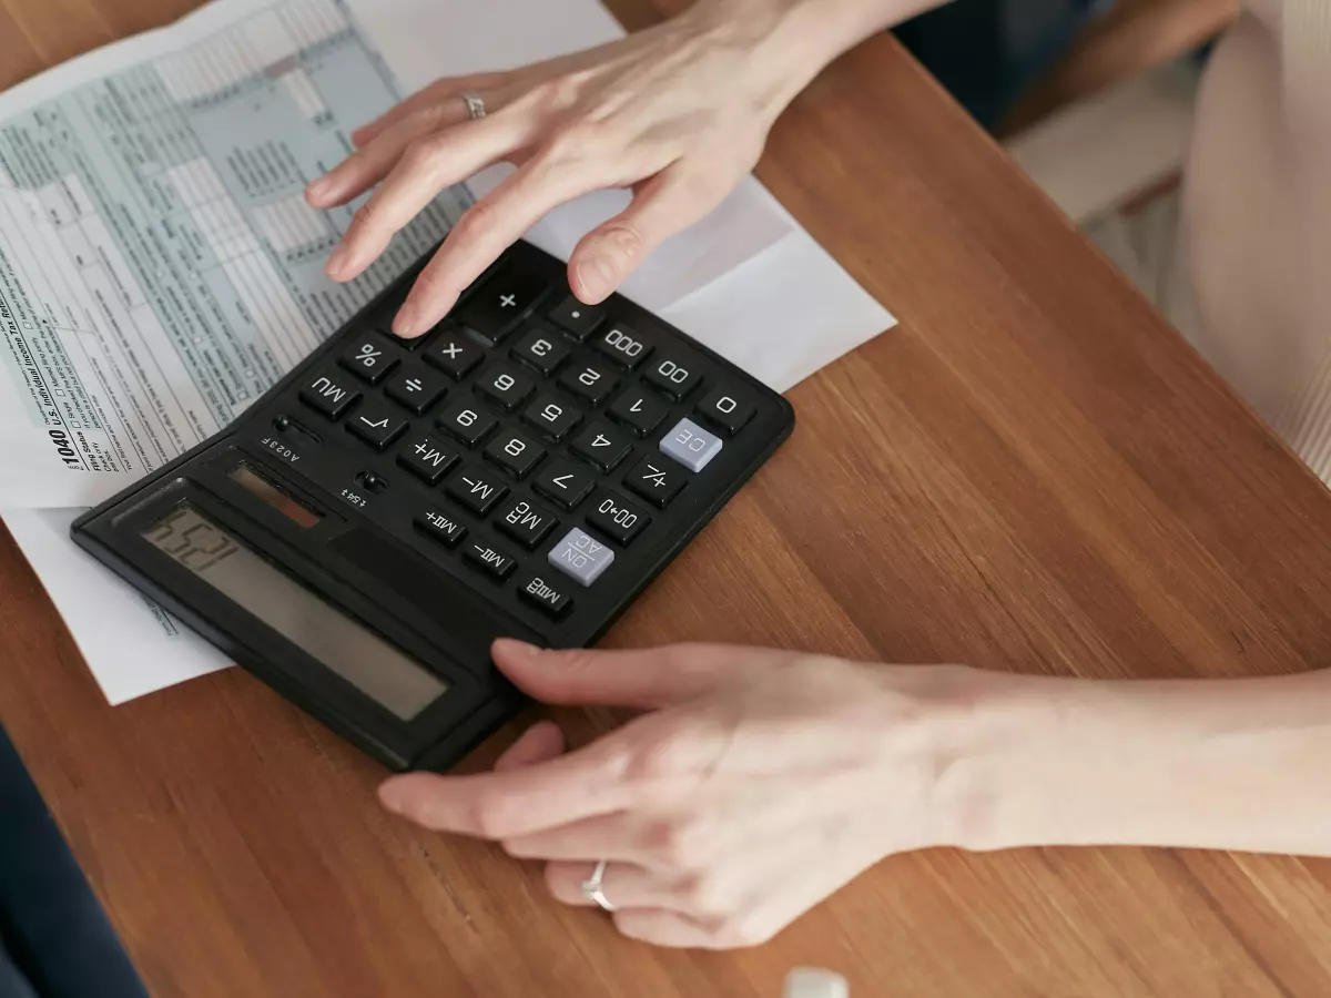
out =
<svg viewBox="0 0 1331 998"><path fill-rule="evenodd" d="M945 777L960 845L1331 856L1331 673L1022 677L977 704Z"/></svg>

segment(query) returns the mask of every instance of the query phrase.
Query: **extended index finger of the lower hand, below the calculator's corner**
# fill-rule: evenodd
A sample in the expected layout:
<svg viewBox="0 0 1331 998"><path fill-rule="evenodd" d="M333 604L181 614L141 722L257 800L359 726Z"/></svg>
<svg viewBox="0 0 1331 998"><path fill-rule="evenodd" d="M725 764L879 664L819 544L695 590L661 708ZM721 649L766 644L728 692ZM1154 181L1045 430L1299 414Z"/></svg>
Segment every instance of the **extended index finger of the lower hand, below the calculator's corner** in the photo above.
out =
<svg viewBox="0 0 1331 998"><path fill-rule="evenodd" d="M394 776L379 786L379 801L425 828L498 841L622 810L630 797L623 760L610 735L523 769Z"/></svg>

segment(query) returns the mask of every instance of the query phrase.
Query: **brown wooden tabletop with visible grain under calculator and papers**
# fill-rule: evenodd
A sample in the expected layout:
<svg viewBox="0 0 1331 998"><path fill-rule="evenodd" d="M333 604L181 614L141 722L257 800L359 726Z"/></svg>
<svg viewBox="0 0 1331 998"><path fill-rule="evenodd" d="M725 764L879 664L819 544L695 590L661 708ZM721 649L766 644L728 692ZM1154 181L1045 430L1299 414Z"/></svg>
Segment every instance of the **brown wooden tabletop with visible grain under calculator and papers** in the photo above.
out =
<svg viewBox="0 0 1331 998"><path fill-rule="evenodd" d="M0 75L185 7L0 0ZM902 325L791 393L795 436L607 643L1083 676L1331 659L1322 486L889 37L799 98L760 174ZM861 998L1331 993L1323 862L938 850L765 947L652 950L539 868L386 817L379 770L240 671L108 708L8 540L0 661L0 720L160 995L775 998L799 963Z"/></svg>

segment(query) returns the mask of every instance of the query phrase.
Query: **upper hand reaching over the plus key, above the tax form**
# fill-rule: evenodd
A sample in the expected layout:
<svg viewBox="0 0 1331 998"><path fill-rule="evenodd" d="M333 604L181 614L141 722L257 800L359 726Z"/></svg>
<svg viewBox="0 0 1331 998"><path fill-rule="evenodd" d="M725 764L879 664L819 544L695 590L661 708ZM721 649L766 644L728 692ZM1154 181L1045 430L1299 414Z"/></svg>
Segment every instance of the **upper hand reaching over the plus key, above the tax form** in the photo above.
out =
<svg viewBox="0 0 1331 998"><path fill-rule="evenodd" d="M350 281L441 190L498 162L518 169L471 208L422 271L394 333L431 329L512 242L559 204L630 188L568 266L604 299L669 236L712 210L757 162L781 109L844 44L827 0L697 0L685 13L571 56L439 80L353 136L357 150L310 184L315 208L379 185L327 263ZM478 93L471 120L461 97Z"/></svg>

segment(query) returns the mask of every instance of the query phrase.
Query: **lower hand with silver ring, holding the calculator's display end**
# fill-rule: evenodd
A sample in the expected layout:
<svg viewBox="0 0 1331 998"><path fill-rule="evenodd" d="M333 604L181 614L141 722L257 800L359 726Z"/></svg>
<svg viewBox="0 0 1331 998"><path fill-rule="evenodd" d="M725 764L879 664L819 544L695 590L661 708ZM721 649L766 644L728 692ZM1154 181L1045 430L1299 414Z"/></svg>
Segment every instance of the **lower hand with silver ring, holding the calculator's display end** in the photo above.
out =
<svg viewBox="0 0 1331 998"><path fill-rule="evenodd" d="M723 645L538 651L494 660L555 704L647 713L563 753L528 729L476 776L411 773L381 788L390 810L544 860L554 896L608 861L620 931L666 946L769 939L889 853L954 844L942 774L978 673L866 665Z"/></svg>

